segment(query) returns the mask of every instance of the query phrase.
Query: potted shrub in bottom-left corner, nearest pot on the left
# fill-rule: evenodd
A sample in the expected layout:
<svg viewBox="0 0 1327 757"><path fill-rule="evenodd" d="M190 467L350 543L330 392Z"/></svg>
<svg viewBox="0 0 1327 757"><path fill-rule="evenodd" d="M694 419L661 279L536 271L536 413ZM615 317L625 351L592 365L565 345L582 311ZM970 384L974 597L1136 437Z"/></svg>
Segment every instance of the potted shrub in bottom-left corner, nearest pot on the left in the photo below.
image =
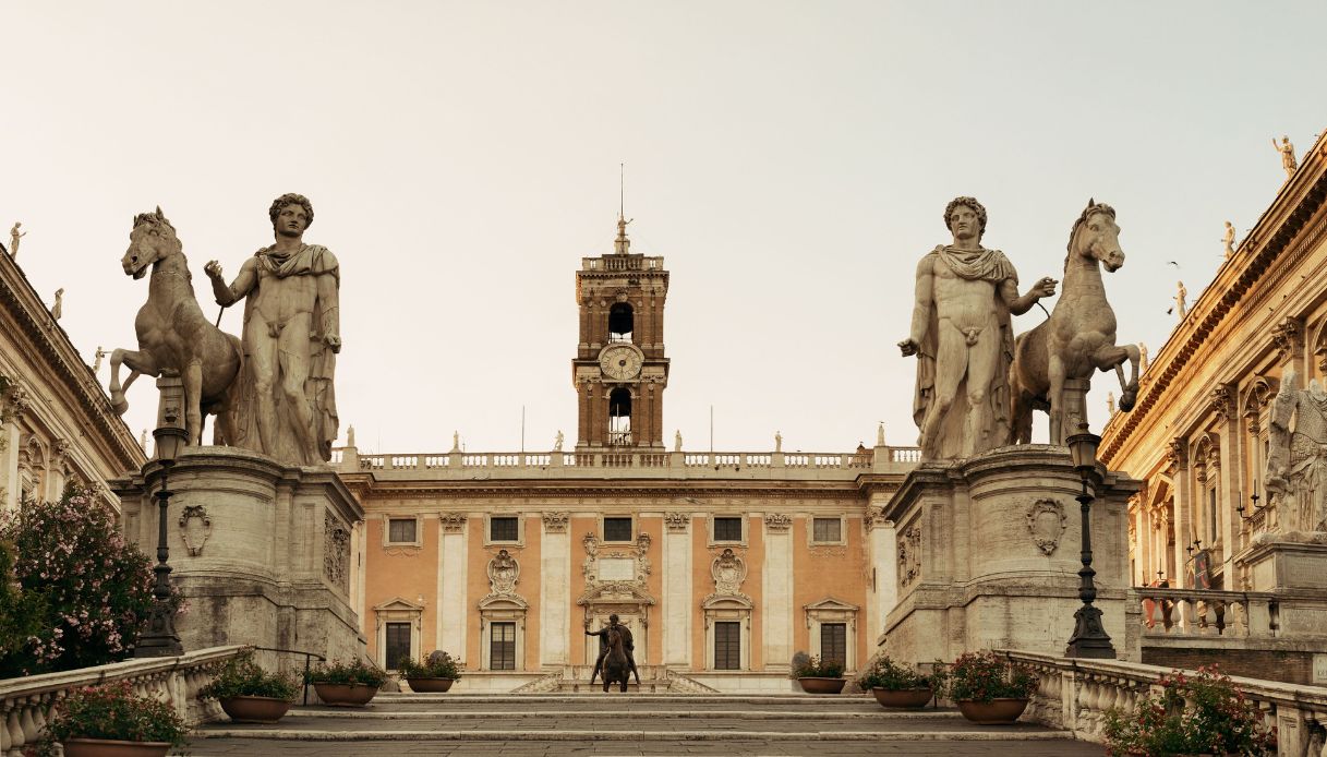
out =
<svg viewBox="0 0 1327 757"><path fill-rule="evenodd" d="M38 754L65 757L161 757L182 753L188 728L170 704L135 696L129 681L85 687L56 704Z"/></svg>

